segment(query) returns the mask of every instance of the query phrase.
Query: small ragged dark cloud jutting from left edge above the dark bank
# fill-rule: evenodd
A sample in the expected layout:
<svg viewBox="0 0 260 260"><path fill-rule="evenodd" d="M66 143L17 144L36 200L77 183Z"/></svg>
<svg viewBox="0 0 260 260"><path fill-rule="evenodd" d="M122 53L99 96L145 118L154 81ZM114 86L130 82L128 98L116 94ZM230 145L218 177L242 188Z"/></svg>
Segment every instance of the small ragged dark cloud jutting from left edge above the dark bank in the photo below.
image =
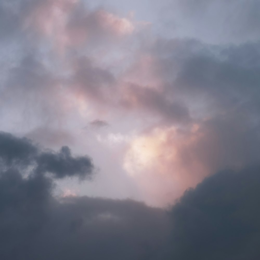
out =
<svg viewBox="0 0 260 260"><path fill-rule="evenodd" d="M63 146L59 152L42 150L29 139L4 132L0 132L0 160L3 168L32 166L37 174L51 173L58 179L72 176L91 178L94 173L92 159L73 157L68 146ZM25 171L30 172L26 168Z"/></svg>

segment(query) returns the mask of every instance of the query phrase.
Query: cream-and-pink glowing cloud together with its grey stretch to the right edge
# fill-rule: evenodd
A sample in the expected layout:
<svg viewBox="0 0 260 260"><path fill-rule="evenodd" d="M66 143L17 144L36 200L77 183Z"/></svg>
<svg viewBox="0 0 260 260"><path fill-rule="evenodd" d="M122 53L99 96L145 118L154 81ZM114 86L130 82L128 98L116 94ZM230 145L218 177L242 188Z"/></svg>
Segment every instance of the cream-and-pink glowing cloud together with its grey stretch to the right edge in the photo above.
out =
<svg viewBox="0 0 260 260"><path fill-rule="evenodd" d="M145 201L172 203L205 176L257 163L259 121L251 121L244 109L197 120L189 127L157 125L130 140L123 165Z"/></svg>

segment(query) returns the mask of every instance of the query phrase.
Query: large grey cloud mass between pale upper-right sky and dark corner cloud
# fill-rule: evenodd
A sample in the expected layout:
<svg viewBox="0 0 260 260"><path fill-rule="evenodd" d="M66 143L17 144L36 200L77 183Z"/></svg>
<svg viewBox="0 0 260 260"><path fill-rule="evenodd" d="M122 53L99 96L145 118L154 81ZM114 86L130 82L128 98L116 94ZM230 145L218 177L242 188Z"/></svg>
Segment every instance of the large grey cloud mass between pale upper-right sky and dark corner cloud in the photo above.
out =
<svg viewBox="0 0 260 260"><path fill-rule="evenodd" d="M156 48L162 66L179 63L175 74L171 67L162 72L171 82L165 83L166 95L183 99L199 127L195 141L180 148L183 164L195 160L214 173L259 161L259 43L212 46L184 40L160 42Z"/></svg>

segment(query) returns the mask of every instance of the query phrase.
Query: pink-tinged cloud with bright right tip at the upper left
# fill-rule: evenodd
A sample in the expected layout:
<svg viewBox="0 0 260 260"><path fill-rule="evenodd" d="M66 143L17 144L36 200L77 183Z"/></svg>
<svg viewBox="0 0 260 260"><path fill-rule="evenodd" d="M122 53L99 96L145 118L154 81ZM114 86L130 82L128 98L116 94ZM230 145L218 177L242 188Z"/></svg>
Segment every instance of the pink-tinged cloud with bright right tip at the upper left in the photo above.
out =
<svg viewBox="0 0 260 260"><path fill-rule="evenodd" d="M102 45L130 35L134 24L105 9L88 9L84 1L39 0L27 5L24 28L50 40L55 51L88 44ZM101 41L100 41L101 40Z"/></svg>

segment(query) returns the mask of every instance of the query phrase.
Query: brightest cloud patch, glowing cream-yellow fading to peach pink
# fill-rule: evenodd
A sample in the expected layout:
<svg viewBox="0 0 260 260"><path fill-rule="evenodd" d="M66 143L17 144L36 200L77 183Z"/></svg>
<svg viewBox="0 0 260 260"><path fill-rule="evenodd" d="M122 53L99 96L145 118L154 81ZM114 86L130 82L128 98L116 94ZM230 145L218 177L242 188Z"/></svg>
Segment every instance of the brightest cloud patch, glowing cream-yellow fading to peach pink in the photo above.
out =
<svg viewBox="0 0 260 260"><path fill-rule="evenodd" d="M205 177L207 171L193 149L199 135L198 125L187 132L164 127L130 142L123 167L148 204L167 205Z"/></svg>

